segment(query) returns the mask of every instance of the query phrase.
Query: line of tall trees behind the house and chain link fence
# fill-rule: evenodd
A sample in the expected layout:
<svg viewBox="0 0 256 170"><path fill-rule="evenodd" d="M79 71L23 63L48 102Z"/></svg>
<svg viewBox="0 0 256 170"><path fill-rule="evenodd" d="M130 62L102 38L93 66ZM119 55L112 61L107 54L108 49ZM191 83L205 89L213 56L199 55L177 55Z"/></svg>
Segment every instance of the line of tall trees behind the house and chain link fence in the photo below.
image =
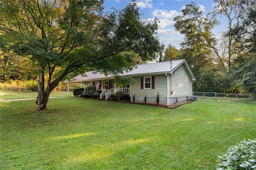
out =
<svg viewBox="0 0 256 170"><path fill-rule="evenodd" d="M256 94L255 1L214 2L214 11L206 15L195 3L186 5L174 18L175 30L185 36L181 49L170 44L159 61L185 58L196 78L194 91ZM228 24L217 39L212 30L219 15Z"/></svg>

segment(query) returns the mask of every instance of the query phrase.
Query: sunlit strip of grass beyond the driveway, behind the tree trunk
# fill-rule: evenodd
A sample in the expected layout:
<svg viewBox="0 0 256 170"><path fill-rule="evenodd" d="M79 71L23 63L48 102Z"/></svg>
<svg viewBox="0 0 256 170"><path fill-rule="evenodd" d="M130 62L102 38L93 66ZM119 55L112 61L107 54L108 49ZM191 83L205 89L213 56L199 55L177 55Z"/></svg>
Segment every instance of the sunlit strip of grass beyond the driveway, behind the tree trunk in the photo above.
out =
<svg viewBox="0 0 256 170"><path fill-rule="evenodd" d="M37 92L19 92L19 91L2 91L0 90L0 100L6 99L23 99L36 98ZM50 97L67 96L66 91L52 92Z"/></svg>

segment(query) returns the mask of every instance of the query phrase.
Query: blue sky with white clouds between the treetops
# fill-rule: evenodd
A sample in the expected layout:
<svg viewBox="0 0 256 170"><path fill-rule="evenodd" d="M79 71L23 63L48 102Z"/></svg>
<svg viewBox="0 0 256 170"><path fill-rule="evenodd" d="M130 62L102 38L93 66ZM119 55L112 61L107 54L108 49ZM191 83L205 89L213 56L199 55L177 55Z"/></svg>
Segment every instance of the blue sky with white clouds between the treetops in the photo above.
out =
<svg viewBox="0 0 256 170"><path fill-rule="evenodd" d="M157 17L160 20L157 33L160 42L165 46L172 44L178 49L183 40L183 35L174 29L174 16L179 15L182 7L191 2L196 3L203 11L203 14L207 14L214 7L213 0L137 0L136 2L137 6L140 7L142 19L150 20ZM111 7L122 9L129 3L130 0L105 0L103 6L105 11L108 11L111 10ZM220 24L213 29L216 38L220 38L221 32L227 28L227 23L223 18L218 16L218 20Z"/></svg>

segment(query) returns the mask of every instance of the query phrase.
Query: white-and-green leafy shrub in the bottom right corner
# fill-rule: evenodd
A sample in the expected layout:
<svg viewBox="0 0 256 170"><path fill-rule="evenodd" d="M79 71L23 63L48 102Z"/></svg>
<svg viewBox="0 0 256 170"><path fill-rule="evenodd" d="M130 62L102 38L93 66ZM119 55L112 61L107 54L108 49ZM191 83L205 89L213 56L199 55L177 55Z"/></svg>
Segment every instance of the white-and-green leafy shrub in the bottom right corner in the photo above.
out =
<svg viewBox="0 0 256 170"><path fill-rule="evenodd" d="M256 140L244 140L218 157L218 170L256 169Z"/></svg>

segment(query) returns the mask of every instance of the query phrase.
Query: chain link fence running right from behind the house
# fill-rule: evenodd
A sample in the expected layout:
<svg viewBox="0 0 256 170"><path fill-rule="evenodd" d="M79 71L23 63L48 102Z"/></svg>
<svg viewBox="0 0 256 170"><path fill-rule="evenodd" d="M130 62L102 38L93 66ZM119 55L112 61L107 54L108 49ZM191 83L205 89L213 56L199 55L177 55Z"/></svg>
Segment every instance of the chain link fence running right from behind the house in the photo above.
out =
<svg viewBox="0 0 256 170"><path fill-rule="evenodd" d="M256 94L223 94L219 92L193 92L198 100L252 101L256 103Z"/></svg>

